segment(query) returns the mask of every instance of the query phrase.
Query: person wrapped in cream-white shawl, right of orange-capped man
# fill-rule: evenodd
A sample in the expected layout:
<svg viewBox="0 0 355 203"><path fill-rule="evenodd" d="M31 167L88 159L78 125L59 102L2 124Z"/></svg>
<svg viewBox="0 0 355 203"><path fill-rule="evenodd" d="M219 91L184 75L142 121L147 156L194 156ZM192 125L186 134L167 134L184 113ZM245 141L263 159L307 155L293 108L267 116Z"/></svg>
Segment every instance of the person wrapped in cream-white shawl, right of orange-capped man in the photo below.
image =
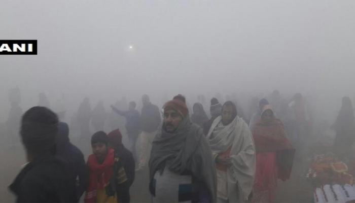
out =
<svg viewBox="0 0 355 203"><path fill-rule="evenodd" d="M255 177L255 146L252 133L226 101L207 139L216 161L218 202L243 202L252 192Z"/></svg>

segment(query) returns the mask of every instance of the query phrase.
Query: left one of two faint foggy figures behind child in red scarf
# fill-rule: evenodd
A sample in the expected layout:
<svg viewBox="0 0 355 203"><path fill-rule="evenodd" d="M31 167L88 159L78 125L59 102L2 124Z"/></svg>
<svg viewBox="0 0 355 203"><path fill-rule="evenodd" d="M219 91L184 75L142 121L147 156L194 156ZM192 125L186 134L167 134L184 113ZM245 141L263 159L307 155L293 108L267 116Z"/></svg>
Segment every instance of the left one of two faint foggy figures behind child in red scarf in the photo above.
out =
<svg viewBox="0 0 355 203"><path fill-rule="evenodd" d="M89 98L84 98L80 104L77 119L80 126L80 139L89 138L90 133L90 119L91 119L91 105Z"/></svg>

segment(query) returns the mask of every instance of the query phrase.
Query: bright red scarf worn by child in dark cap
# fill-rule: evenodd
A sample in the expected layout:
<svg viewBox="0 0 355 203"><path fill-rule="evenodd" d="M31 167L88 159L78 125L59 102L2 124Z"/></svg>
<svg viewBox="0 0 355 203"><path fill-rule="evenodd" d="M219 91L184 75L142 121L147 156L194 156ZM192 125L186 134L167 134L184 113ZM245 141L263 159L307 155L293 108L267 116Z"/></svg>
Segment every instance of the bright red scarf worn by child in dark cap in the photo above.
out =
<svg viewBox="0 0 355 203"><path fill-rule="evenodd" d="M96 202L97 190L106 187L114 173L114 150L109 148L108 154L101 164L97 162L95 155L91 154L87 165L89 166L90 176L84 202Z"/></svg>

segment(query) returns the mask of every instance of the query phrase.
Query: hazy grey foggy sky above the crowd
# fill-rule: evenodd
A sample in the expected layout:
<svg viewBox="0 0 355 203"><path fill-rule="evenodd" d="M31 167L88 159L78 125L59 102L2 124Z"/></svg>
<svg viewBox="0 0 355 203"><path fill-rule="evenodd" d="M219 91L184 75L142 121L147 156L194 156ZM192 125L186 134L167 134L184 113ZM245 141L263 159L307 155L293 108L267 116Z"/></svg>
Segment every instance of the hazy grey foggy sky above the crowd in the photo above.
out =
<svg viewBox="0 0 355 203"><path fill-rule="evenodd" d="M352 0L1 0L0 39L34 39L39 48L0 56L0 104L9 105L15 86L26 108L39 92L78 100L279 89L353 98L354 11Z"/></svg>

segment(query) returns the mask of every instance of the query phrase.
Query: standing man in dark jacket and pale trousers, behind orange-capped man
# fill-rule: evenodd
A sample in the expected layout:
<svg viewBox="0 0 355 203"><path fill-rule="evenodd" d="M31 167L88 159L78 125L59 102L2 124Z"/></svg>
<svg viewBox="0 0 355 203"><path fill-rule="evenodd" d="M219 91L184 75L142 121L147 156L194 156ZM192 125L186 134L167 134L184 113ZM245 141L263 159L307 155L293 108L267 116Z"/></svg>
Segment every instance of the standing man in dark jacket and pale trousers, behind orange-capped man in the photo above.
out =
<svg viewBox="0 0 355 203"><path fill-rule="evenodd" d="M149 161L152 143L161 123L160 111L150 102L147 94L142 96L141 133L139 134L139 162L137 171L145 168Z"/></svg>

